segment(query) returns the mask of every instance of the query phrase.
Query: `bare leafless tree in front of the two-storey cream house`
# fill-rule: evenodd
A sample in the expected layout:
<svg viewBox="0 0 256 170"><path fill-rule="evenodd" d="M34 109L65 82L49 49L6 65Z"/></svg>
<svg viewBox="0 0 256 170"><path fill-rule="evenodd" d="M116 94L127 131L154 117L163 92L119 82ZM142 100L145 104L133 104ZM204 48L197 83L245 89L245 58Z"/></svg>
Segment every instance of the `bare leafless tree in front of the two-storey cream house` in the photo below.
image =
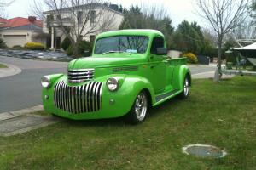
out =
<svg viewBox="0 0 256 170"><path fill-rule="evenodd" d="M48 10L43 12L43 10ZM101 0L43 0L34 1L34 14L42 20L51 16L51 26L60 29L73 46L73 55L78 54L79 41L99 31L108 31L113 26L114 15L108 3ZM48 19L49 22L49 19Z"/></svg>

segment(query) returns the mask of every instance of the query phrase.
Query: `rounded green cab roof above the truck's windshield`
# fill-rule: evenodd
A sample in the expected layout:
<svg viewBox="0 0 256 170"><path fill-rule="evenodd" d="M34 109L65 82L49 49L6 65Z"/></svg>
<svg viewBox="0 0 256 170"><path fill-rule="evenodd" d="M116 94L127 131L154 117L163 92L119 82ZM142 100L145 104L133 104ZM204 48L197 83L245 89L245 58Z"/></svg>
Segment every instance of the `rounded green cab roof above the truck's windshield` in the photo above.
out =
<svg viewBox="0 0 256 170"><path fill-rule="evenodd" d="M114 36L146 36L146 37L154 37L160 36L164 37L164 35L157 30L147 30L147 29L131 29L131 30L119 30L119 31L108 31L99 34L96 39L102 37L114 37Z"/></svg>

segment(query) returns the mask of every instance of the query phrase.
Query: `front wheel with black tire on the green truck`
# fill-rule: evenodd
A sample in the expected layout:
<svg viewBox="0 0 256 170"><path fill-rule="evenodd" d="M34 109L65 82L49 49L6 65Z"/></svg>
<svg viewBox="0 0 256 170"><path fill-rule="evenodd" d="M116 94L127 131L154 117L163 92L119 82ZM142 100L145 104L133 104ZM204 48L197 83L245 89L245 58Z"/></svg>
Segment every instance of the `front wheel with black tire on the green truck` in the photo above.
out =
<svg viewBox="0 0 256 170"><path fill-rule="evenodd" d="M126 121L131 124L138 124L145 120L148 114L148 95L142 91L137 95L131 111L126 116Z"/></svg>

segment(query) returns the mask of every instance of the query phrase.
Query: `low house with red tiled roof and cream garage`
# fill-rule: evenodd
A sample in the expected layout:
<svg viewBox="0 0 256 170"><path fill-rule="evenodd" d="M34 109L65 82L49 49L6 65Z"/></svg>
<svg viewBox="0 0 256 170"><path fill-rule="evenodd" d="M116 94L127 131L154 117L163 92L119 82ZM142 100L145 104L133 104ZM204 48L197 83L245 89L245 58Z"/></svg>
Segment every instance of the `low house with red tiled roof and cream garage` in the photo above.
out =
<svg viewBox="0 0 256 170"><path fill-rule="evenodd" d="M23 47L26 42L45 43L45 38L41 37L42 33L42 22L36 17L16 17L9 20L0 18L0 37L9 48L16 45Z"/></svg>

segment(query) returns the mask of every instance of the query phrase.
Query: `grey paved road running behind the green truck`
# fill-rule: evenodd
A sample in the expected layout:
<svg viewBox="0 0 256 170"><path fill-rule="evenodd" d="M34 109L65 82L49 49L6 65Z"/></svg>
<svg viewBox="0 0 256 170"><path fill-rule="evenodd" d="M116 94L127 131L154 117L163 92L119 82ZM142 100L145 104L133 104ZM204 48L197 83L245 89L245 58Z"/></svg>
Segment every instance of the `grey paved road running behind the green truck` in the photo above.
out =
<svg viewBox="0 0 256 170"><path fill-rule="evenodd" d="M18 75L0 78L0 113L42 105L40 78L49 74L67 73L65 62L2 56L0 56L0 62L16 65L22 69ZM215 67L202 65L189 65L189 68L192 74L215 70Z"/></svg>

